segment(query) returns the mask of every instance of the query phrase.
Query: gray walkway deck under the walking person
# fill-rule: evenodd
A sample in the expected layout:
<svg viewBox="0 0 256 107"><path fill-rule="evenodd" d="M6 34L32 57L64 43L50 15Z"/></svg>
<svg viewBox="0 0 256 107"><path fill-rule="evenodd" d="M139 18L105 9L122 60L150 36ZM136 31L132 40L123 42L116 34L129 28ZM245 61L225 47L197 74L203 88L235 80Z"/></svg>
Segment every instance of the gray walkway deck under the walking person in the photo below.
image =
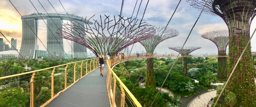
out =
<svg viewBox="0 0 256 107"><path fill-rule="evenodd" d="M110 107L106 83L107 70L108 67L105 65L103 77L100 76L99 68L92 71L46 107Z"/></svg>

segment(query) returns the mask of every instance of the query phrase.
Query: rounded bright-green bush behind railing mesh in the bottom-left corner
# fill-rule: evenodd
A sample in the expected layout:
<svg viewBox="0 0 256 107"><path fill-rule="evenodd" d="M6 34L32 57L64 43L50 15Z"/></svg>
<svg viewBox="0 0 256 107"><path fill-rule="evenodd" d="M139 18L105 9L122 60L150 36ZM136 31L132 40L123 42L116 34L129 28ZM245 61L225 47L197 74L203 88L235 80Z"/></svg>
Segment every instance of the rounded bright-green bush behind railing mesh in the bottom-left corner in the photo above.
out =
<svg viewBox="0 0 256 107"><path fill-rule="evenodd" d="M29 92L23 88L13 88L0 94L1 107L28 107L29 101Z"/></svg>

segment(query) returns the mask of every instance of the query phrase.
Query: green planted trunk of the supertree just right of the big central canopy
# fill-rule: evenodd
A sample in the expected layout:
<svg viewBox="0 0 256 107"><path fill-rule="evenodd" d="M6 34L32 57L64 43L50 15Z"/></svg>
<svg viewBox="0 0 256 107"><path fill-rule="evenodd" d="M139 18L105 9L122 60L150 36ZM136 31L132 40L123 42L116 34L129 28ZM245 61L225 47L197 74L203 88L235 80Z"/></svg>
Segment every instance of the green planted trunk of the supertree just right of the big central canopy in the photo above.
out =
<svg viewBox="0 0 256 107"><path fill-rule="evenodd" d="M147 73L146 73L145 87L148 87L148 86L156 87L153 58L148 58L148 61L147 61Z"/></svg>

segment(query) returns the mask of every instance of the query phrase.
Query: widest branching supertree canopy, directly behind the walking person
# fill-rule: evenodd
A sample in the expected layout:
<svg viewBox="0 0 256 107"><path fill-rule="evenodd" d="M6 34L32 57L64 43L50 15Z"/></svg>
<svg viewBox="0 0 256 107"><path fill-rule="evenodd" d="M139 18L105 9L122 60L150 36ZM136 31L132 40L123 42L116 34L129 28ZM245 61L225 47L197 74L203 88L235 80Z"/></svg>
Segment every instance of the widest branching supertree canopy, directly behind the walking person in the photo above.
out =
<svg viewBox="0 0 256 107"><path fill-rule="evenodd" d="M89 19L90 20L90 19ZM113 54L126 48L127 46L150 38L155 34L153 26L145 23L138 25L138 20L124 17L100 16L100 20L94 20L94 24L64 24L57 34L65 39L75 41L84 45L99 57ZM129 36L129 37L127 37Z"/></svg>

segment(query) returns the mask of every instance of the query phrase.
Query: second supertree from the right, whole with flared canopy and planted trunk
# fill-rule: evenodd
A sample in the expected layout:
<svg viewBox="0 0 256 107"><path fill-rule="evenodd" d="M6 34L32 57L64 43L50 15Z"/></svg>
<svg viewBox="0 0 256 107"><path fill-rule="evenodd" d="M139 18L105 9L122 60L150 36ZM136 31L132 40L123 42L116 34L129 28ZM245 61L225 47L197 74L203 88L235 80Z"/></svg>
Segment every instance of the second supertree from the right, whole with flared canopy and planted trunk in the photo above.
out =
<svg viewBox="0 0 256 107"><path fill-rule="evenodd" d="M218 55L226 55L226 49L228 46L228 30L207 32L202 34L201 37L212 41L217 46ZM227 71L227 57L218 57L218 78L227 78Z"/></svg>

